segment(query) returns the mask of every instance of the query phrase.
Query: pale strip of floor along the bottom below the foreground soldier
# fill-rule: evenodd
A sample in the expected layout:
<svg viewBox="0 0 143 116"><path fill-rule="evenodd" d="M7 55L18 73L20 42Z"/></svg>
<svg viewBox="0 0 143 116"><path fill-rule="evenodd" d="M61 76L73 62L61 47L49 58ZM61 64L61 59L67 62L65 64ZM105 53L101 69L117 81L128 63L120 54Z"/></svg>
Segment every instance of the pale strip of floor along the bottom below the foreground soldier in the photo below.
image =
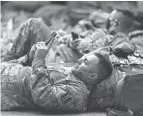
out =
<svg viewBox="0 0 143 116"><path fill-rule="evenodd" d="M57 114L58 115L58 114ZM53 114L42 114L40 112L18 112L18 111L8 111L1 112L1 116L57 116ZM106 116L106 113L80 113L80 114L60 114L58 116Z"/></svg>

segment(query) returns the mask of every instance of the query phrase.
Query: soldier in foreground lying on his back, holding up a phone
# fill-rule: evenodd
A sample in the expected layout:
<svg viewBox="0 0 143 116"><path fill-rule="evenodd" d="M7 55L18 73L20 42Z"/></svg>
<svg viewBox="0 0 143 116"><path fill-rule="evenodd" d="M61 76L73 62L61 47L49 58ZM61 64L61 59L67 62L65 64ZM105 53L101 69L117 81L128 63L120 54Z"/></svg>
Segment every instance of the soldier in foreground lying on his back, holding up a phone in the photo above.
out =
<svg viewBox="0 0 143 116"><path fill-rule="evenodd" d="M111 62L99 53L87 54L67 69L45 66L44 42L35 44L30 54L33 51L32 67L1 64L1 110L86 111L91 89L112 73Z"/></svg>

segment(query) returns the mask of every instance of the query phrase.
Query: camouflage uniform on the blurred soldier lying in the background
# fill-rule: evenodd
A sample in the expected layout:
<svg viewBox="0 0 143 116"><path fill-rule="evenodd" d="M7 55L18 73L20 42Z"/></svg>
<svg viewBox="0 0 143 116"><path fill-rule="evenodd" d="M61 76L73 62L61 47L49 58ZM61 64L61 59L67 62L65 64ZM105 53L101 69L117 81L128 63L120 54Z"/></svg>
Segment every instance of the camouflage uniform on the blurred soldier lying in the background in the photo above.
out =
<svg viewBox="0 0 143 116"><path fill-rule="evenodd" d="M76 62L79 58L82 57L82 53L89 53L93 50L96 50L100 47L108 46L113 36L107 34L102 29L97 29L95 32L86 31L79 34L79 44L77 47L74 47L71 35L67 35L59 38L61 44L57 46L56 52L50 51L47 61L50 62L59 62L55 60L60 58L62 62ZM76 41L76 40L75 40ZM54 53L51 53L54 52Z"/></svg>

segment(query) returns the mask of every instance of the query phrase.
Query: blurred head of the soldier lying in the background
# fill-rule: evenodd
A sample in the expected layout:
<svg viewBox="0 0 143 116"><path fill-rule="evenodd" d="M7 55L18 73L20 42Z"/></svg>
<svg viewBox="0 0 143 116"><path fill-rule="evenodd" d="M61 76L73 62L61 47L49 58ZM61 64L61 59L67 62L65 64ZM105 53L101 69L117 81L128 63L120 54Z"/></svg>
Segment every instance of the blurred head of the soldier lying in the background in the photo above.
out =
<svg viewBox="0 0 143 116"><path fill-rule="evenodd" d="M107 21L107 29L111 34L122 32L128 34L132 31L134 15L129 9L114 9Z"/></svg>

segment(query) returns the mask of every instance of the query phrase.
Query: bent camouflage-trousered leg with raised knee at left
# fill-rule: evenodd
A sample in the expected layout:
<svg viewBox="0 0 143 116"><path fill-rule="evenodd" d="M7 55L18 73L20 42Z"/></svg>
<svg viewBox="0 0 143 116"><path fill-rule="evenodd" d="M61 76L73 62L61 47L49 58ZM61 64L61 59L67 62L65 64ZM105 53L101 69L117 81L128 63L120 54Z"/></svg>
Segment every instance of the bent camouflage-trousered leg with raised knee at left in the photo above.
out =
<svg viewBox="0 0 143 116"><path fill-rule="evenodd" d="M51 31L40 20L30 18L19 29L12 45L11 53L7 53L2 61L20 58L27 54L32 45L39 41L46 41L51 36Z"/></svg>

